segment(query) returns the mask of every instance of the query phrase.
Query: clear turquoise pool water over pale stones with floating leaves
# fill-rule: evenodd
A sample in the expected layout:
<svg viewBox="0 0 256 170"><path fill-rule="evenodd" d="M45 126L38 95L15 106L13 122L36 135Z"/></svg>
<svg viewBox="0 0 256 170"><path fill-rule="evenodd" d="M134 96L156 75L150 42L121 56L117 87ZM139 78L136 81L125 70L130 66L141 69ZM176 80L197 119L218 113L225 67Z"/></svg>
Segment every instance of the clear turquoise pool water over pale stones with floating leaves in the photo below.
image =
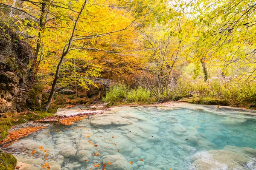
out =
<svg viewBox="0 0 256 170"><path fill-rule="evenodd" d="M47 162L56 170L102 170L103 162L112 164L106 164L106 170L186 170L195 153L229 146L256 149L256 116L225 108L209 110L216 113L189 108L113 108L114 113L104 119L96 116L68 127L52 125L3 149L35 169ZM49 150L47 160L39 146ZM29 156L32 150L37 153ZM248 170L256 168L256 154L249 157L250 165L241 164Z"/></svg>

